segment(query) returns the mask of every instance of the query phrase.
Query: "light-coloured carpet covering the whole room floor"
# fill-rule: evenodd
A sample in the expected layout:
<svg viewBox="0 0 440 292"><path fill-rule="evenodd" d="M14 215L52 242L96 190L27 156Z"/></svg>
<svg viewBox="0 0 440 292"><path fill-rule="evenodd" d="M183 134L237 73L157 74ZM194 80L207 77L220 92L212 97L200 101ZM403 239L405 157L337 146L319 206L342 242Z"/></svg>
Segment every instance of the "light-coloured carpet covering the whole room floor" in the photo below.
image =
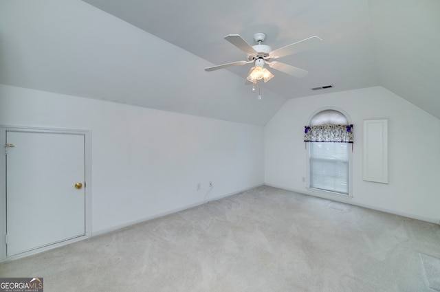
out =
<svg viewBox="0 0 440 292"><path fill-rule="evenodd" d="M440 227L263 186L3 262L60 291L440 291Z"/></svg>

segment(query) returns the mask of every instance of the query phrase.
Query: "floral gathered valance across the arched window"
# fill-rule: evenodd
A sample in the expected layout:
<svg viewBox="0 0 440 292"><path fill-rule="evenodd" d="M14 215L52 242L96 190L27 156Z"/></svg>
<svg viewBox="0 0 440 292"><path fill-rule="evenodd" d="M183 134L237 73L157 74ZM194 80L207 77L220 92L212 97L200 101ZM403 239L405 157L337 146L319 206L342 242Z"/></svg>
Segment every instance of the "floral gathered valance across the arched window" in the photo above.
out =
<svg viewBox="0 0 440 292"><path fill-rule="evenodd" d="M305 126L305 142L343 142L353 143L353 125Z"/></svg>

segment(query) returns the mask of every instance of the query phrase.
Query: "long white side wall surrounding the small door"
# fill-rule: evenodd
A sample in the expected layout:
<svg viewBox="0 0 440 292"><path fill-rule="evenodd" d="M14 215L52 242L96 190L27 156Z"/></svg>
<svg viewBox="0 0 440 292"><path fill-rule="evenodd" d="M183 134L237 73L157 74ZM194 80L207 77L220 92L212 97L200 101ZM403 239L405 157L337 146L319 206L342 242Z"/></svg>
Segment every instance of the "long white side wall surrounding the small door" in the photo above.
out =
<svg viewBox="0 0 440 292"><path fill-rule="evenodd" d="M0 124L91 130L94 234L263 184L261 126L5 85Z"/></svg>

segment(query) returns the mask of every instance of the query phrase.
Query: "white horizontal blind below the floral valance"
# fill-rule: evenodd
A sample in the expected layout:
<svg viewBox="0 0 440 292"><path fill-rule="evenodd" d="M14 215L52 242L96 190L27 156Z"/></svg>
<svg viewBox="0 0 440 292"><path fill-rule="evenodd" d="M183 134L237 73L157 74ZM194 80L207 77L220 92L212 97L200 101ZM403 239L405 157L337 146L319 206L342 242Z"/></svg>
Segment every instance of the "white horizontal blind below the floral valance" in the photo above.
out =
<svg viewBox="0 0 440 292"><path fill-rule="evenodd" d="M309 142L310 188L349 194L348 143Z"/></svg>

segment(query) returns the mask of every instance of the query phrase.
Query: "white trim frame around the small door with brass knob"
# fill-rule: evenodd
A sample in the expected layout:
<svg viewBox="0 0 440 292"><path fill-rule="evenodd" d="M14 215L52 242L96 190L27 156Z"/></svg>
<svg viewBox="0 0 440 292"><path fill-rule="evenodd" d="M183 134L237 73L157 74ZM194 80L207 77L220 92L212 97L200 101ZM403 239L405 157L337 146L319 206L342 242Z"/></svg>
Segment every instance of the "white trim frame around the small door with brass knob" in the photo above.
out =
<svg viewBox="0 0 440 292"><path fill-rule="evenodd" d="M59 133L59 134L78 134L84 135L85 138L85 235L72 238L70 240L62 241L61 243L54 243L53 245L47 245L39 249L33 249L32 251L26 251L22 254L15 256L6 256L6 155L4 144L6 142L6 132L32 132L32 133ZM69 243L74 243L79 240L84 240L91 237L91 130L81 129L67 129L67 128L36 128L25 126L2 126L0 125L0 142L1 142L1 155L0 155L0 262L5 260L15 260L17 258L23 258L32 254L38 254L41 251L53 249L55 247L61 247Z"/></svg>

